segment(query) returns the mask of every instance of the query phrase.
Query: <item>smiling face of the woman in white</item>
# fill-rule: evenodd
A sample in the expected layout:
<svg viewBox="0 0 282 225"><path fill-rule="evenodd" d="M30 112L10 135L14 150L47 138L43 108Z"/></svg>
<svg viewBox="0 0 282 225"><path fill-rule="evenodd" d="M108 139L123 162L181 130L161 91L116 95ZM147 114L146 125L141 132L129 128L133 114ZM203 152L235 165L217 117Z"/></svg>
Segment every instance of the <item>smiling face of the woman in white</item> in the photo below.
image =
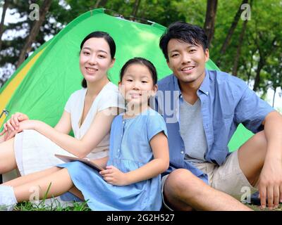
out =
<svg viewBox="0 0 282 225"><path fill-rule="evenodd" d="M87 82L97 82L114 65L109 44L104 38L92 37L80 51L80 71Z"/></svg>

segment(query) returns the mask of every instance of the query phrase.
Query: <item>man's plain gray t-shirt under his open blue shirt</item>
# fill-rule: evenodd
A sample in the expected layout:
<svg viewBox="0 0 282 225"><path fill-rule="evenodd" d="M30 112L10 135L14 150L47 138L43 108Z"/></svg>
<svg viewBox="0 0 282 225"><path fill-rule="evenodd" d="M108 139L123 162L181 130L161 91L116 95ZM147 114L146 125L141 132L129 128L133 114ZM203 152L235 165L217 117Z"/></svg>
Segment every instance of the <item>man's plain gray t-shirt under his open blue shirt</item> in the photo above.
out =
<svg viewBox="0 0 282 225"><path fill-rule="evenodd" d="M200 98L191 105L183 99L180 103L180 136L185 145L185 160L205 162L207 139L204 134Z"/></svg>

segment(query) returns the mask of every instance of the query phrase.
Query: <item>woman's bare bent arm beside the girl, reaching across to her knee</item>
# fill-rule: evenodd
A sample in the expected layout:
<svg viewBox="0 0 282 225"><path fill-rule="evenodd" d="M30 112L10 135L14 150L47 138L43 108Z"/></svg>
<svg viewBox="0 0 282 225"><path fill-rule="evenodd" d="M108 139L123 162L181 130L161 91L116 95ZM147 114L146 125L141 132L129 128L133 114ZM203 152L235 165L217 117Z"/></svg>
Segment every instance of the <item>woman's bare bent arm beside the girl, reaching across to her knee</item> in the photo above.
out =
<svg viewBox="0 0 282 225"><path fill-rule="evenodd" d="M63 134L48 124L37 120L21 122L20 131L23 129L35 129L69 153L78 158L85 158L104 139L104 136L109 133L111 122L114 120L116 112L117 108L107 108L97 113L90 125L90 129L88 129L81 140L75 139L68 134ZM61 129L59 125L56 128Z"/></svg>

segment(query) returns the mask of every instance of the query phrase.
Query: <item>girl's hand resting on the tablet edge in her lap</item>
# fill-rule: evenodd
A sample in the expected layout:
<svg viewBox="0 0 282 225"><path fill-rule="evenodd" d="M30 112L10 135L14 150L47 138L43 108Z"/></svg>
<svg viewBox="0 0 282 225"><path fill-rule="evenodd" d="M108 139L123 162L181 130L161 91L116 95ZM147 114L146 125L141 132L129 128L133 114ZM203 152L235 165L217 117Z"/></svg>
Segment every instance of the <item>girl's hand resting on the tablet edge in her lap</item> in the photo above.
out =
<svg viewBox="0 0 282 225"><path fill-rule="evenodd" d="M125 186L129 184L127 174L121 172L121 170L114 166L106 167L106 169L100 171L99 174L101 174L104 180L109 184L116 186Z"/></svg>

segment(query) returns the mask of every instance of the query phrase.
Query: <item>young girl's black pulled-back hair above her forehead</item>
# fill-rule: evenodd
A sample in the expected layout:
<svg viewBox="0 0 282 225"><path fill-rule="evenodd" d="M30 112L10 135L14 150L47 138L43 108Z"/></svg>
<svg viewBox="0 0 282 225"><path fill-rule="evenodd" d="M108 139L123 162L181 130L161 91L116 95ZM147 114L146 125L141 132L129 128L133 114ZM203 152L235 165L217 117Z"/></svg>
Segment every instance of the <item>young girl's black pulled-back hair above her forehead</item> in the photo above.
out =
<svg viewBox="0 0 282 225"><path fill-rule="evenodd" d="M157 70L154 67L153 63L151 63L149 60L145 59L145 58L141 58L141 57L135 57L135 58L131 58L130 60L128 60L124 65L123 68L121 68L121 72L120 72L120 80L123 79L123 75L125 70L128 68L129 65L132 64L141 64L141 65L145 65L150 74L152 75L152 79L153 79L153 84L157 84L158 81L158 77L157 77Z"/></svg>

